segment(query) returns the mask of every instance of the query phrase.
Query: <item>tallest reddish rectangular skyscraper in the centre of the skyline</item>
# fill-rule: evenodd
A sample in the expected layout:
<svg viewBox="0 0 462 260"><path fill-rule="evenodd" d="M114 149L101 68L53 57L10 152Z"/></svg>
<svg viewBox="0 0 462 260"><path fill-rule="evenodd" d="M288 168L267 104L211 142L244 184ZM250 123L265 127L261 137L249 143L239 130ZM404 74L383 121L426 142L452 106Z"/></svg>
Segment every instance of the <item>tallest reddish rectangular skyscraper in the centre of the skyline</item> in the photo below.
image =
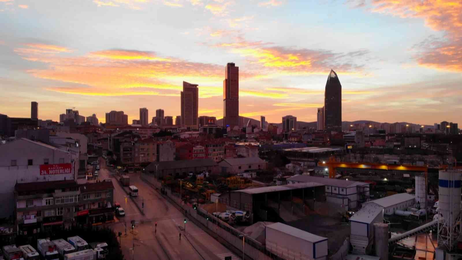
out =
<svg viewBox="0 0 462 260"><path fill-rule="evenodd" d="M228 63L223 80L223 126L239 126L239 67Z"/></svg>

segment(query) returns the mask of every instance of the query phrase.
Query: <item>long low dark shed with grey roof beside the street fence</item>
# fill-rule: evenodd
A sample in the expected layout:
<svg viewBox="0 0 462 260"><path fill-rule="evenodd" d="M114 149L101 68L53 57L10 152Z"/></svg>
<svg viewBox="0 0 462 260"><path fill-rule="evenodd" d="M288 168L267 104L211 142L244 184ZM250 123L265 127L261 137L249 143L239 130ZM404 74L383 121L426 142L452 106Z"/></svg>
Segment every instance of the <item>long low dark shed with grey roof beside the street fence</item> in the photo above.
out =
<svg viewBox="0 0 462 260"><path fill-rule="evenodd" d="M212 159L195 159L152 162L145 167L146 173L153 174L157 178L164 178L167 175L175 177L188 173L202 173L204 171L210 174L218 174L218 164Z"/></svg>

